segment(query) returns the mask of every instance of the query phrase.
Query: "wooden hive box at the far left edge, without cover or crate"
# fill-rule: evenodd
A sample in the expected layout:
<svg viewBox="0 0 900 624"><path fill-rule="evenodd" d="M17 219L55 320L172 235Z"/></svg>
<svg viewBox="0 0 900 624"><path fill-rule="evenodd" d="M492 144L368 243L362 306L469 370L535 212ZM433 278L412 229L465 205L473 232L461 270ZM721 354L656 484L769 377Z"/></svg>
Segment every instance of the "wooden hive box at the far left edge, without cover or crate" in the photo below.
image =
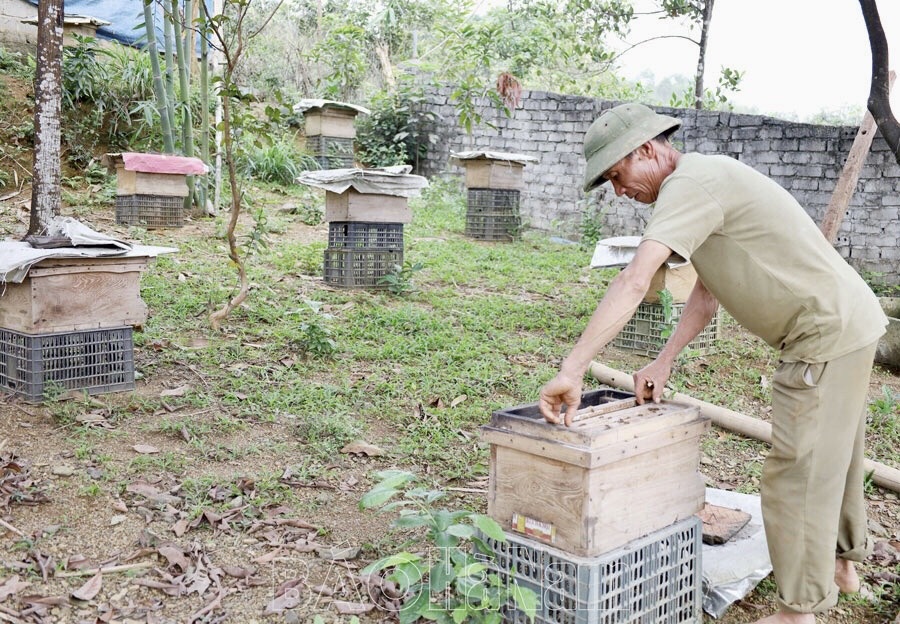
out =
<svg viewBox="0 0 900 624"><path fill-rule="evenodd" d="M42 260L21 283L0 287L0 327L49 333L142 325L146 266L145 257Z"/></svg>

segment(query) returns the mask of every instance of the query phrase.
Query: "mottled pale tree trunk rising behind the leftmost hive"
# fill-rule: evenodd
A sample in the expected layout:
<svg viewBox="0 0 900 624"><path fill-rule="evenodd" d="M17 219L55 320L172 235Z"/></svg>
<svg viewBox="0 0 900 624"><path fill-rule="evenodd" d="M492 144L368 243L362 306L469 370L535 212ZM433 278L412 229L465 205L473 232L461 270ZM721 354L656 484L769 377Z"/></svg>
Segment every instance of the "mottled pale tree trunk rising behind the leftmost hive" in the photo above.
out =
<svg viewBox="0 0 900 624"><path fill-rule="evenodd" d="M41 235L60 201L63 0L38 3L37 69L34 76L34 174L28 234Z"/></svg>

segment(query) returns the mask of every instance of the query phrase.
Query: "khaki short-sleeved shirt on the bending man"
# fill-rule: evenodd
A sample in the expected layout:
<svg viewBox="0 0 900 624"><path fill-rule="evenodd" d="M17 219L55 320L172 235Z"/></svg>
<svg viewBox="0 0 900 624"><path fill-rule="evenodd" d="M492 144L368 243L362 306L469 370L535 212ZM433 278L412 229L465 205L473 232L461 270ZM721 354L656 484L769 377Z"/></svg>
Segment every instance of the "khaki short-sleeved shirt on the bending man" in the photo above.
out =
<svg viewBox="0 0 900 624"><path fill-rule="evenodd" d="M800 204L732 158L682 155L643 239L689 259L728 313L785 361L825 362L885 331L877 297Z"/></svg>

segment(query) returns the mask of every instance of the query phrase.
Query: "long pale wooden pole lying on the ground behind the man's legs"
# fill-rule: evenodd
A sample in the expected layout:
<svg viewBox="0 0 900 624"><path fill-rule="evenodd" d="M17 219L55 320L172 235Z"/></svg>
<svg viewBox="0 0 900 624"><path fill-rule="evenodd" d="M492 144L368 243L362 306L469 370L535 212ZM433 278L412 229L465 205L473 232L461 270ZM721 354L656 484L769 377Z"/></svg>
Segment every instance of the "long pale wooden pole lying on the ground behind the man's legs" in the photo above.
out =
<svg viewBox="0 0 900 624"><path fill-rule="evenodd" d="M591 362L590 372L594 379L600 383L634 392L634 379L627 373L610 368L599 362ZM772 425L770 423L695 399L680 392L675 392L667 398L676 403L696 405L700 408L701 414L724 429L740 433L754 440L772 443ZM875 485L893 492L900 492L900 470L871 459L865 460L864 467L866 472L872 473L872 481Z"/></svg>

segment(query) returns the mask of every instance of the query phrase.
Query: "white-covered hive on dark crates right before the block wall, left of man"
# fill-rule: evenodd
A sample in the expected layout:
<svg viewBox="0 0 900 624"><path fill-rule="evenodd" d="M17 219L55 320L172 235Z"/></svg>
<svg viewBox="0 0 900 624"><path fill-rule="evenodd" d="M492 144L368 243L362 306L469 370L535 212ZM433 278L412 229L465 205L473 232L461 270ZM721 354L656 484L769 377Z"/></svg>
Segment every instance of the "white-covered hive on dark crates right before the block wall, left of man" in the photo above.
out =
<svg viewBox="0 0 900 624"><path fill-rule="evenodd" d="M519 212L525 186L523 154L473 151L452 154L466 170L466 236L484 241L513 241L521 236Z"/></svg>

